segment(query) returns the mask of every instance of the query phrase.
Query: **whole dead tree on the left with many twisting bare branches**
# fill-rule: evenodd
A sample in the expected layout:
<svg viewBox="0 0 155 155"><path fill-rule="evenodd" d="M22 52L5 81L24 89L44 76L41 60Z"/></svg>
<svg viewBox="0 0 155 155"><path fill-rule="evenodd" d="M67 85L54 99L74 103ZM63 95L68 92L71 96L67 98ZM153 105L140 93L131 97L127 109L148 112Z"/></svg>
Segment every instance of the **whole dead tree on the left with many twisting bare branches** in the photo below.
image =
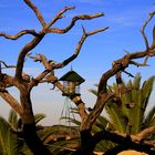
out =
<svg viewBox="0 0 155 155"><path fill-rule="evenodd" d="M39 83L48 82L49 80L55 83L56 86L61 86L56 83L56 78L52 74L52 71L55 69L63 68L68 65L71 61L73 61L79 55L81 46L89 35L93 35L95 33L102 32L107 28L99 29L91 32L85 32L85 30L83 29L83 35L75 49L74 54L69 59L64 60L62 63L51 65L50 61L48 61L45 56L39 54L35 61L42 62L45 70L42 73L40 73L37 78L31 78L23 73L25 56L28 55L30 58L33 58L30 54L31 50L33 50L46 34L66 33L75 25L75 23L79 20L92 20L95 18L103 17L104 14L95 13L92 16L89 14L76 16L72 18L71 22L66 28L59 29L59 28L54 28L53 24L58 22L60 19L64 18L63 14L66 11L75 9L75 7L65 7L60 12L58 12L58 14L49 23L46 23L43 16L38 10L38 8L31 2L31 0L24 0L24 2L29 8L32 9L35 17L40 21L42 29L39 32L37 32L35 30L22 30L14 35L0 33L0 37L3 37L9 40L18 40L25 34L30 34L33 37L33 39L30 42L28 42L19 52L14 75L11 76L8 74L3 74L2 71L0 70L0 83L1 83L0 96L20 115L23 123L24 140L28 146L30 147L30 149L32 151L32 153L34 155L48 155L50 154L50 152L45 148L45 146L43 146L35 132L34 116L33 116L32 103L30 97L31 91ZM10 68L4 62L0 62L0 64L1 63L4 65L4 68ZM20 101L16 100L9 93L7 89L8 86L16 86L19 90Z"/></svg>

